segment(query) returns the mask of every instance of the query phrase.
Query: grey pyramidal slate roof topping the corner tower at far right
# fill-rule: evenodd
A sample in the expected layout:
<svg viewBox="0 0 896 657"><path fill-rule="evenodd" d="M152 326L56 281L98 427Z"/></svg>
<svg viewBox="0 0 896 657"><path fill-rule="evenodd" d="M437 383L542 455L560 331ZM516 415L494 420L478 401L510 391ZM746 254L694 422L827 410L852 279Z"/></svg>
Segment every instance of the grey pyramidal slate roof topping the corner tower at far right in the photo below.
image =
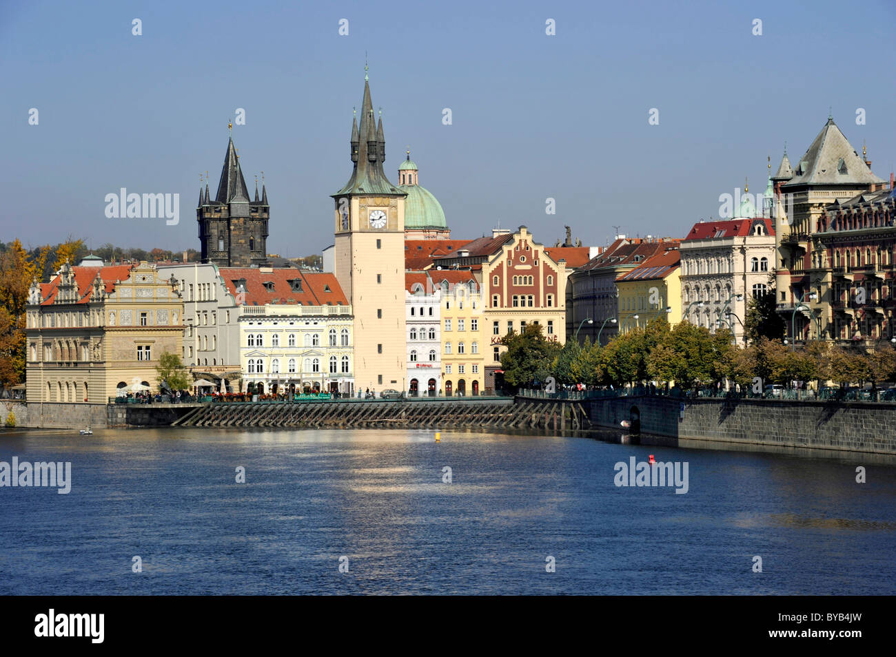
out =
<svg viewBox="0 0 896 657"><path fill-rule="evenodd" d="M859 157L832 118L824 124L806 154L797 160L794 176L782 185L883 183Z"/></svg>

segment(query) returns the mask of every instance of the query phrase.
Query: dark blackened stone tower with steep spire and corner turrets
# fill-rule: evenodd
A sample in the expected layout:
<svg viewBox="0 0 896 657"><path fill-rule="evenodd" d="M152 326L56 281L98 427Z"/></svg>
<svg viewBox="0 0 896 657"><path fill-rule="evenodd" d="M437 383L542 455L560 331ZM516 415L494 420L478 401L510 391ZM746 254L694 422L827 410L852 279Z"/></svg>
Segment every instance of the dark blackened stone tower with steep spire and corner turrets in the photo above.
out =
<svg viewBox="0 0 896 657"><path fill-rule="evenodd" d="M256 183L257 184L257 183ZM218 194L209 199L209 187L196 208L199 222L199 241L202 262L213 262L219 267L254 267L267 264L268 191L262 184L262 200L249 201L246 180L239 166L233 139L228 142L227 155L221 169Z"/></svg>

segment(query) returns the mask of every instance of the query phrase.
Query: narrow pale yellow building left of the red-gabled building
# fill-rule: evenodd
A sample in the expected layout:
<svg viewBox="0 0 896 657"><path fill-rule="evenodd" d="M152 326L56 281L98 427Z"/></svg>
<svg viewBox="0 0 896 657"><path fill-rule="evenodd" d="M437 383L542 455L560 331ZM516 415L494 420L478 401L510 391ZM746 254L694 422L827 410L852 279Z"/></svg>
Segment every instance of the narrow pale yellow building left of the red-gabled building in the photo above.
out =
<svg viewBox="0 0 896 657"><path fill-rule="evenodd" d="M484 392L485 322L479 284L470 270L430 270L442 288L442 381L445 397Z"/></svg>

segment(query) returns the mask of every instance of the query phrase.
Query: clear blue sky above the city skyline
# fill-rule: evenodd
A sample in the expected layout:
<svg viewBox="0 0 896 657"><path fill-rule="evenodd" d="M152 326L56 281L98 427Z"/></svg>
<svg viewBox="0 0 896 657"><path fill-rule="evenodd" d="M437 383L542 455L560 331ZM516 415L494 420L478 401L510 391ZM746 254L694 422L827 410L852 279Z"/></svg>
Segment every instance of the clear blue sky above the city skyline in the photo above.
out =
<svg viewBox="0 0 896 657"><path fill-rule="evenodd" d="M719 194L745 176L762 191L766 157L777 168L787 141L796 161L829 107L889 179L894 24L893 0L3 0L0 241L198 249L199 176L209 171L214 196L242 107L233 138L250 192L264 171L268 251L320 252L332 243L329 195L351 173L365 53L386 171L396 182L409 145L452 237L499 222L542 243L565 224L585 244L607 243L613 226L682 236L718 217ZM179 224L106 218L105 196L121 187L179 193Z"/></svg>

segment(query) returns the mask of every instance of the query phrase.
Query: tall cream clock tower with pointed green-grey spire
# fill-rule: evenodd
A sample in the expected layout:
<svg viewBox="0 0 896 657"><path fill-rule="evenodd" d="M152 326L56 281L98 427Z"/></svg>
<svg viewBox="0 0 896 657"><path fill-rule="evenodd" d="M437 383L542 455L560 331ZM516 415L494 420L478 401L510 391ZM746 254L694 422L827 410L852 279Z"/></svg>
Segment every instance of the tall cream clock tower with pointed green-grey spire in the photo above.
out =
<svg viewBox="0 0 896 657"><path fill-rule="evenodd" d="M366 71L366 67L365 67ZM383 117L376 121L364 76L361 115L352 119L349 182L335 201L334 272L355 317L357 388L405 389L404 200L383 173Z"/></svg>

